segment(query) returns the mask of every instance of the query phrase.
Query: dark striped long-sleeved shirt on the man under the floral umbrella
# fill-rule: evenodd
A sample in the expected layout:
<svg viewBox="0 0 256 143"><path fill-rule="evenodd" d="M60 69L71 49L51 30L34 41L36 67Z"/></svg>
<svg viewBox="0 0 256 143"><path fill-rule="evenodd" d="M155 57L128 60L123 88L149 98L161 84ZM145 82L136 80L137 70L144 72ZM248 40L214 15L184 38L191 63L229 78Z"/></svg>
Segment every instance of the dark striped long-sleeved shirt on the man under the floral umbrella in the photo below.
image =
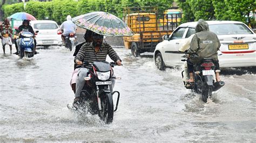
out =
<svg viewBox="0 0 256 143"><path fill-rule="evenodd" d="M114 62L116 62L117 60L122 61L109 44L103 43L102 46L100 46L99 51L96 53L95 47L93 47L92 43L86 42L80 48L74 61L76 62L76 60L79 60L87 61L90 63L93 63L95 61L106 61L107 55L109 55ZM92 68L92 66L88 65L86 66L86 68L90 69Z"/></svg>

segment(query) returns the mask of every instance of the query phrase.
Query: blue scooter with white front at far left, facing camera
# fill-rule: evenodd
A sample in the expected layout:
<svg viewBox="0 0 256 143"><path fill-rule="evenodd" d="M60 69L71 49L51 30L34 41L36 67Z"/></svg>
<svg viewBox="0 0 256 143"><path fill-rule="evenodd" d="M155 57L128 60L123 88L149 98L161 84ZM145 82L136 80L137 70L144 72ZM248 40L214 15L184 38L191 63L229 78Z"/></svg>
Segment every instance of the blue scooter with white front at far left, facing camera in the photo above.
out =
<svg viewBox="0 0 256 143"><path fill-rule="evenodd" d="M35 32L37 34L38 31ZM35 54L35 43L31 32L22 32L19 45L21 46L21 58L32 58Z"/></svg>

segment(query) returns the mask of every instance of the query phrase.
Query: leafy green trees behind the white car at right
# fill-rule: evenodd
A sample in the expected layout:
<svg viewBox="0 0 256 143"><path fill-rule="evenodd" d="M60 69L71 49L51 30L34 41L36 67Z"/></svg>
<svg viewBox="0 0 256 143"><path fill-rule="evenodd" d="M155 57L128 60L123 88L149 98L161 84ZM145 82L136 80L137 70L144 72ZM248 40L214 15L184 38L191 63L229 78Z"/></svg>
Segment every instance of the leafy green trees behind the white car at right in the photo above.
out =
<svg viewBox="0 0 256 143"><path fill-rule="evenodd" d="M191 22L198 19L205 20L237 20L252 23L250 11L256 9L255 0L176 0L183 10L182 22Z"/></svg>

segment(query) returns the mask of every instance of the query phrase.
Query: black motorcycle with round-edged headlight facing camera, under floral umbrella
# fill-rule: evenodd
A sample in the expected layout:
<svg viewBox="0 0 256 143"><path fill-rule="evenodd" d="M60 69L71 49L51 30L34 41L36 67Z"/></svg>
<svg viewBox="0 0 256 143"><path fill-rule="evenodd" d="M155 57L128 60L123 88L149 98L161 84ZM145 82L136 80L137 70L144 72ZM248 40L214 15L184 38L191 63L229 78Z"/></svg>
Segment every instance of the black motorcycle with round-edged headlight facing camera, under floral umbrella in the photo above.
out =
<svg viewBox="0 0 256 143"><path fill-rule="evenodd" d="M89 62L84 62L83 66L91 65ZM72 109L79 111L89 111L92 115L98 114L99 118L106 124L110 124L113 121L113 113L117 111L120 93L118 91L111 91L110 86L112 84L113 67L116 66L114 62L99 61L92 63L92 69L89 70L89 74L85 77L85 85L80 94L80 101L78 108ZM116 78L119 79L119 78ZM113 106L113 95L117 94L116 109ZM71 108L68 104L68 108Z"/></svg>

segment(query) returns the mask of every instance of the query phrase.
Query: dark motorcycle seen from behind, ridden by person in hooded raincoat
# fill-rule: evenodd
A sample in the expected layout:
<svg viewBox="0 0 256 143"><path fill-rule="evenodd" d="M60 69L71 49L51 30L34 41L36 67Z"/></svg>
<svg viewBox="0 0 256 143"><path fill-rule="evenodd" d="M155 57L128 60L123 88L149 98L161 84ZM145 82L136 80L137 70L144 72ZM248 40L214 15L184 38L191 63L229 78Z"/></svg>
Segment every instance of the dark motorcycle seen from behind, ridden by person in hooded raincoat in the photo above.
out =
<svg viewBox="0 0 256 143"><path fill-rule="evenodd" d="M181 57L185 58L181 61L187 61L187 55ZM220 72L220 70L214 69L215 65L213 59L204 58L199 64L194 65L194 70L196 70L194 71L194 83L186 83L184 81L185 88L200 94L202 100L207 102L207 98L212 96L213 91L217 91L225 85L224 81L214 82L213 76L215 75L215 72ZM183 78L184 72L185 70L181 72ZM185 76L188 76L188 73Z"/></svg>

